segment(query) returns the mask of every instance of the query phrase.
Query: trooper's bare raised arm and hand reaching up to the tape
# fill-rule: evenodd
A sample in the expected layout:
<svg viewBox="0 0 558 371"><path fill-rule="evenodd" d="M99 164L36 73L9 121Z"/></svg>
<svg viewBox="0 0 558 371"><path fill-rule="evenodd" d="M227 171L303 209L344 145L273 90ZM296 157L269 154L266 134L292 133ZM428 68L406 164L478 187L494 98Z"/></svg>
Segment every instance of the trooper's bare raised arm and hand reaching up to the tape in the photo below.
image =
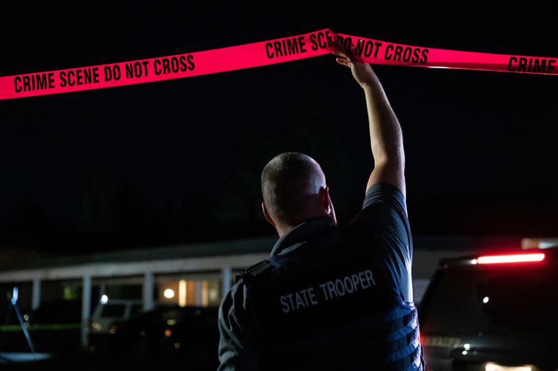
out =
<svg viewBox="0 0 558 371"><path fill-rule="evenodd" d="M337 62L351 69L354 79L363 88L370 125L370 145L374 170L368 178L366 190L379 182L387 182L400 189L405 196L405 151L401 126L384 88L368 63L359 63L349 54L337 49Z"/></svg>

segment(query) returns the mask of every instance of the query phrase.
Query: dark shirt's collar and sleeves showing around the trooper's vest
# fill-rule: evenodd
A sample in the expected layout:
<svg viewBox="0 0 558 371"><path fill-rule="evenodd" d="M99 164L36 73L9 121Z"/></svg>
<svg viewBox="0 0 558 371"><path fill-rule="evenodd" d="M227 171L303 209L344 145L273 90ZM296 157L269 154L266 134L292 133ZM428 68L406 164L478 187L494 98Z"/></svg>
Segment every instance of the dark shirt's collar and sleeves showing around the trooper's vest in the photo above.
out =
<svg viewBox="0 0 558 371"><path fill-rule="evenodd" d="M273 246L271 256L292 253L303 248L303 242L320 231L333 227L328 216L309 219L289 230ZM407 219L405 196L388 183L373 185L366 192L363 210L347 227L365 231L370 248L381 262L378 271L386 274L393 294L412 302L412 237ZM239 281L227 293L219 309L219 370L257 370L257 354L254 347L264 339L255 338L255 329L248 312L250 297L243 281Z"/></svg>

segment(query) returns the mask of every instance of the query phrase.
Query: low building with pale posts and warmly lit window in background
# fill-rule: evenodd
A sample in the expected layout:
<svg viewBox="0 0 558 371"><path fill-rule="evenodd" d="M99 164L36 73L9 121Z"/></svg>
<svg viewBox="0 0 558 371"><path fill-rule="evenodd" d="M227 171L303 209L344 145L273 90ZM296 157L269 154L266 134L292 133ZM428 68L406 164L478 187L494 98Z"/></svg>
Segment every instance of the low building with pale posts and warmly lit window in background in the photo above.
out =
<svg viewBox="0 0 558 371"><path fill-rule="evenodd" d="M275 236L259 237L29 260L0 268L0 287L8 294L19 287L24 311L58 301L77 304L63 315L80 319L81 344L86 346L98 306L117 302L127 316L168 304L218 306L234 276L268 258L275 242ZM520 238L415 237L414 300L421 301L440 259L520 246Z"/></svg>

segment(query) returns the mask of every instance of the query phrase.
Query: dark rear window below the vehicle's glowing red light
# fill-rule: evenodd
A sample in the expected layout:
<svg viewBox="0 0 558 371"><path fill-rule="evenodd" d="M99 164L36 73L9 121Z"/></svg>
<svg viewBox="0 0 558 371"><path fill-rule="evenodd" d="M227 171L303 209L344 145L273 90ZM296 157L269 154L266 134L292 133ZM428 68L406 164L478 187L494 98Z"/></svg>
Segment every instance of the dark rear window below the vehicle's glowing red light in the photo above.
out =
<svg viewBox="0 0 558 371"><path fill-rule="evenodd" d="M425 333L558 329L558 270L533 265L439 271L421 308Z"/></svg>

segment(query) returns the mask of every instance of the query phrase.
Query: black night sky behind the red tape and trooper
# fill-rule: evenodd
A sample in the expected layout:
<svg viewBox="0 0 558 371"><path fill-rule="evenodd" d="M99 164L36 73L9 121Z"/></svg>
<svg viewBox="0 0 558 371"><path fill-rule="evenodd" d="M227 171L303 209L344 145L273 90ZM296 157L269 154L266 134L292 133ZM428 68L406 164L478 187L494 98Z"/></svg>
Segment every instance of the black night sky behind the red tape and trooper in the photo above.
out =
<svg viewBox="0 0 558 371"><path fill-rule="evenodd" d="M558 56L551 9L354 3L22 3L0 75L197 52L330 28L474 52ZM506 10L508 9L508 10ZM558 235L558 77L377 66L405 136L416 235ZM274 232L259 175L315 157L342 223L372 169L361 89L333 56L0 101L0 245L80 251Z"/></svg>

